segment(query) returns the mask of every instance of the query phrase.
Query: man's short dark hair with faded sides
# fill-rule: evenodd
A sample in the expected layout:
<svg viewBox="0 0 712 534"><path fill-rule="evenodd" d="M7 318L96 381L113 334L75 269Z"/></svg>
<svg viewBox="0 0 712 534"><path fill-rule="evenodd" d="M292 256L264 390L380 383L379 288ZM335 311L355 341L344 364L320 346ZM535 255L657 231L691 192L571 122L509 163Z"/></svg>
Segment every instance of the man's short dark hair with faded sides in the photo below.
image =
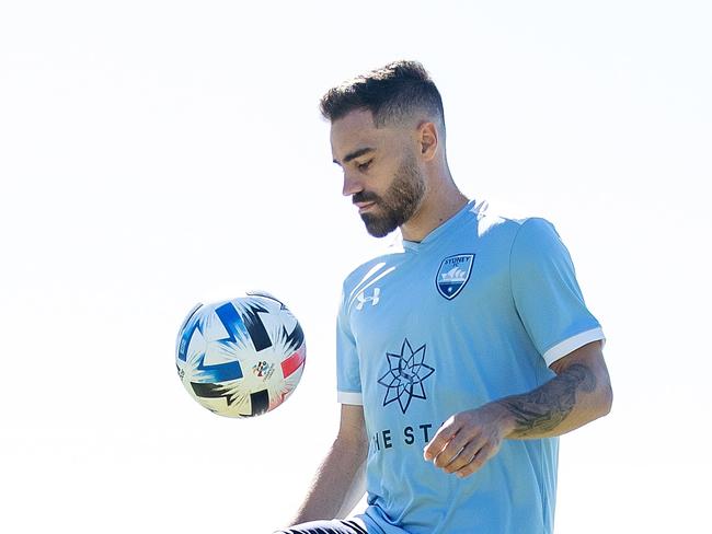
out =
<svg viewBox="0 0 712 534"><path fill-rule="evenodd" d="M445 129L440 93L417 61L393 61L330 89L320 108L332 123L353 111L368 109L377 128L425 112Z"/></svg>

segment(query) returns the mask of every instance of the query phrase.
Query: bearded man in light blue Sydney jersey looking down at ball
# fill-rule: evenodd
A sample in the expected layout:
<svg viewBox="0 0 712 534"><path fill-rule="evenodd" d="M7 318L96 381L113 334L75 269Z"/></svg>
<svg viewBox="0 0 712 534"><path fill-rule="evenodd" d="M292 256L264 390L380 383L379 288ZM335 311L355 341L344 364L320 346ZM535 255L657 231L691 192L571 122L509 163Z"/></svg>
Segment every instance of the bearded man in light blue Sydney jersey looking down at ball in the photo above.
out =
<svg viewBox="0 0 712 534"><path fill-rule="evenodd" d="M398 61L332 89L334 162L402 249L344 282L341 427L290 533L550 533L558 436L610 410L604 334L542 219L452 182L440 95ZM368 508L341 521L363 495ZM336 518L336 519L334 519Z"/></svg>

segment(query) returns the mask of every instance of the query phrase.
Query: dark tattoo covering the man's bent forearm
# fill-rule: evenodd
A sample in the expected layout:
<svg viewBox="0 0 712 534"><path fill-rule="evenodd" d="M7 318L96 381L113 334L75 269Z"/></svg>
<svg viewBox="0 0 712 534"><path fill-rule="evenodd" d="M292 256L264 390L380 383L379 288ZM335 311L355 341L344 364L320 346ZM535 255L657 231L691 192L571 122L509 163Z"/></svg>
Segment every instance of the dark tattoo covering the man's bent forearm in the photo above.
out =
<svg viewBox="0 0 712 534"><path fill-rule="evenodd" d="M524 438L555 429L574 409L576 392L594 390L594 373L586 365L574 363L541 387L503 398L501 403L515 417L514 436Z"/></svg>

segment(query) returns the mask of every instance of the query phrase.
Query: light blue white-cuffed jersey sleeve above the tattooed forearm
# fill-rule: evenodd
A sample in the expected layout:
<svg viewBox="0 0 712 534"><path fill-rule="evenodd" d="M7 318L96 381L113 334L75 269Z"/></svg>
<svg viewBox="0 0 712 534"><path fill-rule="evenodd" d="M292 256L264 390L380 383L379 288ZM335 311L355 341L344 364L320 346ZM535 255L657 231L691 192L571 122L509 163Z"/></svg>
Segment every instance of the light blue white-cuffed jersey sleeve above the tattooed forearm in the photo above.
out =
<svg viewBox="0 0 712 534"><path fill-rule="evenodd" d="M509 260L515 306L547 365L605 339L600 324L586 307L569 251L550 222L525 221Z"/></svg>

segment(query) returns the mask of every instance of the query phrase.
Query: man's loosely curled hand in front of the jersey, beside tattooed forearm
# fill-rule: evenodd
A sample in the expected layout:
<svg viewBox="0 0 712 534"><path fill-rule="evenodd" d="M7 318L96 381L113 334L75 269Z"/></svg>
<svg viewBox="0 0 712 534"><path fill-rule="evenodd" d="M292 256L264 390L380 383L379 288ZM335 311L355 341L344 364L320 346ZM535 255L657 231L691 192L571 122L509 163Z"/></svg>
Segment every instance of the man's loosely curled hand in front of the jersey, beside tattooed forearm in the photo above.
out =
<svg viewBox="0 0 712 534"><path fill-rule="evenodd" d="M471 475L494 456L514 429L504 406L491 403L450 417L424 449L425 460L459 477Z"/></svg>

